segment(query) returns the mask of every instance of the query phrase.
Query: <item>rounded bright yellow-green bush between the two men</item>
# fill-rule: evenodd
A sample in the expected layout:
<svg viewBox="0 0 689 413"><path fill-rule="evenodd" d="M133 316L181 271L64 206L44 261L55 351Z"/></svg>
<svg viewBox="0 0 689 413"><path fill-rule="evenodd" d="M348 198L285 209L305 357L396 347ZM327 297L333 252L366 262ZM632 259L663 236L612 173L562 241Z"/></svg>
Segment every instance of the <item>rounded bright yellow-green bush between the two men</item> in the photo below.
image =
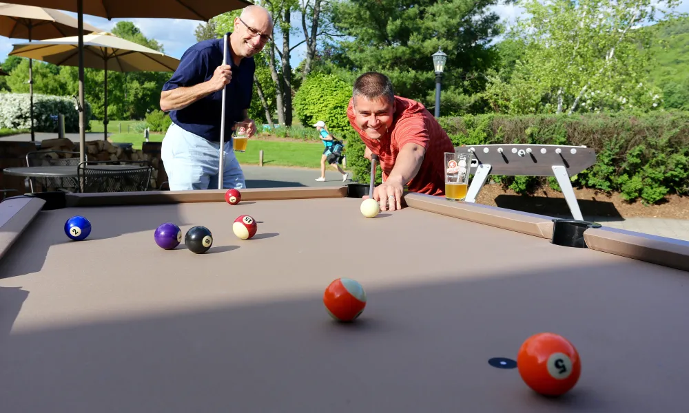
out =
<svg viewBox="0 0 689 413"><path fill-rule="evenodd" d="M351 85L334 74L311 74L294 95L294 113L302 125L323 120L333 133L345 133L351 129L347 120L351 89Z"/></svg>

